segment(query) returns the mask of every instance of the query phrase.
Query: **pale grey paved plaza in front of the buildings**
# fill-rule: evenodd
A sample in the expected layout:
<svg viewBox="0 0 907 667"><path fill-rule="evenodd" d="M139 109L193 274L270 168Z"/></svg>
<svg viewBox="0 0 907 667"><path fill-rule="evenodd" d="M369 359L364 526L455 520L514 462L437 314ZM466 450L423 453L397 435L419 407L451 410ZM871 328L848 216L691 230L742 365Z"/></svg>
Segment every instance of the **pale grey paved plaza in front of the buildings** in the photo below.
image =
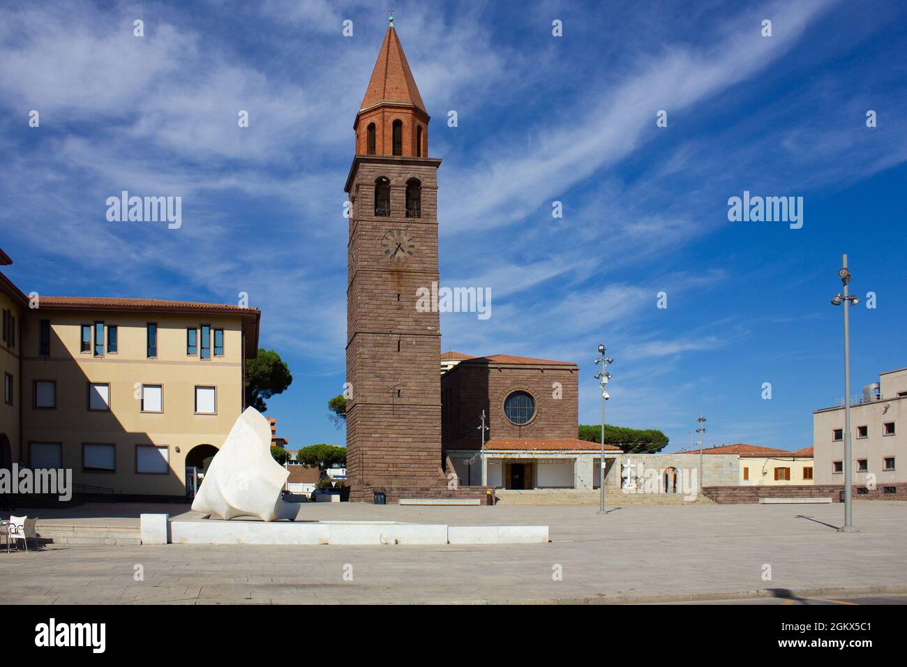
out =
<svg viewBox="0 0 907 667"><path fill-rule="evenodd" d="M4 603L554 603L907 593L907 504L406 507L304 504L299 519L550 525L550 544L70 546L0 552ZM52 521L198 518L84 505ZM131 515L132 514L132 518ZM82 518L79 516L82 515ZM40 524L39 524L40 525ZM771 580L764 581L770 566ZM143 579L136 580L137 572ZM557 576L561 574L561 576Z"/></svg>

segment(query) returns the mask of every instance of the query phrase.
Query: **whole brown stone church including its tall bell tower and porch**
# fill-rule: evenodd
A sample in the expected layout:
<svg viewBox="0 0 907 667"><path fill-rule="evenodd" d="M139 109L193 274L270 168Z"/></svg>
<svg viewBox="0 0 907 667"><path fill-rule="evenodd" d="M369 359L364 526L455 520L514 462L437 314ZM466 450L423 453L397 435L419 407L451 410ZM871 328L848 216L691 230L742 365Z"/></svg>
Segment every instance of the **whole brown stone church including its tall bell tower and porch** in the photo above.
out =
<svg viewBox="0 0 907 667"><path fill-rule="evenodd" d="M429 157L429 122L391 19L353 123L345 188L350 500L598 486L600 446L577 438L578 366L445 359L438 312L416 309L417 290L439 278L441 160ZM606 451L613 467L619 449Z"/></svg>

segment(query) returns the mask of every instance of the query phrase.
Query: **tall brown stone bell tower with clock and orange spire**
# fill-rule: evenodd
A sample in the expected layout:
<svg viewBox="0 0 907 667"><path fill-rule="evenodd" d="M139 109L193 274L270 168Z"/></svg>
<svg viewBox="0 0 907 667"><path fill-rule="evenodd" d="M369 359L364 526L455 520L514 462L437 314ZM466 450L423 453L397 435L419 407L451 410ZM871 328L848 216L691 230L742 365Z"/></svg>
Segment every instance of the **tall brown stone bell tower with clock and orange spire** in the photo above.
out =
<svg viewBox="0 0 907 667"><path fill-rule="evenodd" d="M441 331L417 289L438 280L437 169L428 113L394 28L356 113L346 288L350 500L444 488Z"/></svg>

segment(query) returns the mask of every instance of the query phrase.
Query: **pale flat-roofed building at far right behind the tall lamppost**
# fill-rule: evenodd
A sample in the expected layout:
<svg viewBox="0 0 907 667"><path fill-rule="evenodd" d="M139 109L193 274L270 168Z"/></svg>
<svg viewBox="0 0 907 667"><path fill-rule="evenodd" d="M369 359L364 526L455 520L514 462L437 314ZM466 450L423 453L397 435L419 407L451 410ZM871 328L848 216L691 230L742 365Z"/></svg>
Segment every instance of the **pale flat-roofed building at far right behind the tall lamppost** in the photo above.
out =
<svg viewBox="0 0 907 667"><path fill-rule="evenodd" d="M907 368L879 375L864 387L863 398L851 406L853 484L892 486L907 482ZM844 407L813 413L815 483L844 484Z"/></svg>

